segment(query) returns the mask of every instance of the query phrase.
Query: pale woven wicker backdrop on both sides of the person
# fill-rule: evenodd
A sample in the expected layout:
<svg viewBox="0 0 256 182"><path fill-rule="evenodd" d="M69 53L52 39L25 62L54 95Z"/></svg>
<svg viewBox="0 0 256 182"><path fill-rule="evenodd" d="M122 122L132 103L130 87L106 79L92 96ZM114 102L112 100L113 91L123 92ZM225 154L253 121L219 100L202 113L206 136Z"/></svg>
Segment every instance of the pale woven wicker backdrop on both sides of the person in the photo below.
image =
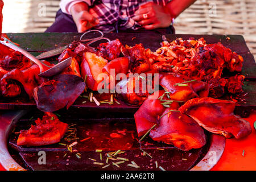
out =
<svg viewBox="0 0 256 182"><path fill-rule="evenodd" d="M3 32L45 31L55 20L60 2L60 0L3 1L5 2ZM175 29L177 34L243 35L256 59L255 0L197 0L175 20Z"/></svg>

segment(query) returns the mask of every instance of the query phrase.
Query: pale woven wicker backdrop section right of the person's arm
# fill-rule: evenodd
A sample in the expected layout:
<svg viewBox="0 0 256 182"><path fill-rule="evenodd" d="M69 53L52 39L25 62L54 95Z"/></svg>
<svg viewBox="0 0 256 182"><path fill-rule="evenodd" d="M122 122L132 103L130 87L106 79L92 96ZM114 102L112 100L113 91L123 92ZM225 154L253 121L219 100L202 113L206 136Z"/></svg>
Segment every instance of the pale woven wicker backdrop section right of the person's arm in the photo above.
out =
<svg viewBox="0 0 256 182"><path fill-rule="evenodd" d="M177 34L243 35L256 59L255 0L197 0L175 20L175 29Z"/></svg>

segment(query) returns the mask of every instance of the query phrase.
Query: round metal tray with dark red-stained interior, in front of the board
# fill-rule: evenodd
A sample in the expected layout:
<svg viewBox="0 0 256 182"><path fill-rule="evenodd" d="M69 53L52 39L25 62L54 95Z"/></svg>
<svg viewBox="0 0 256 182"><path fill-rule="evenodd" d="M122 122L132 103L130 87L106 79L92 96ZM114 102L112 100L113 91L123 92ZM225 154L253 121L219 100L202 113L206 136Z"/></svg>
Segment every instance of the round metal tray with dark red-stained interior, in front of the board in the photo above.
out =
<svg viewBox="0 0 256 182"><path fill-rule="evenodd" d="M81 116L78 117L80 119L66 117L71 113L61 113L63 114L61 115L61 120L68 123L77 123L77 137L80 137L80 140L85 138L88 132L93 132L95 136L94 139L79 142L73 147L73 150L78 150L81 153L81 159L76 158L76 152L69 153L67 147L59 144L42 147L16 146L18 135L15 135L15 131L27 129L34 120L28 119L31 115L34 115L36 119L37 117L42 117L42 114L38 111L35 113L30 111L28 113L26 110L23 110L9 111L1 115L0 163L5 169L156 171L160 170L159 168L155 168L155 161L158 161L159 166L162 166L166 170L209 170L218 162L225 148L224 137L209 133L207 133L207 144L204 147L188 152L178 150L171 145L156 143L150 138L145 138L143 142L139 143L133 118L118 118L117 115L115 115L115 118L105 119L84 119ZM125 135L123 135L123 130L126 130ZM122 138L108 139L110 135L118 134L122 135ZM101 140L104 142L100 142ZM61 142L67 143L64 140ZM129 144L127 145L127 143ZM106 152L122 149L122 151L125 151L125 154L120 155L120 157L127 158L130 162L134 160L141 168L127 167L126 165L130 162L126 162L119 164L120 168L111 165L108 168L102 169L102 166L96 166L92 160L88 159L93 158L101 162L100 154L95 152L98 147L104 148L102 152L104 161L102 160L102 163L105 163ZM148 152L152 158L147 155L143 156L139 148ZM39 151L46 152L46 165L38 163ZM68 155L64 157L65 154Z"/></svg>

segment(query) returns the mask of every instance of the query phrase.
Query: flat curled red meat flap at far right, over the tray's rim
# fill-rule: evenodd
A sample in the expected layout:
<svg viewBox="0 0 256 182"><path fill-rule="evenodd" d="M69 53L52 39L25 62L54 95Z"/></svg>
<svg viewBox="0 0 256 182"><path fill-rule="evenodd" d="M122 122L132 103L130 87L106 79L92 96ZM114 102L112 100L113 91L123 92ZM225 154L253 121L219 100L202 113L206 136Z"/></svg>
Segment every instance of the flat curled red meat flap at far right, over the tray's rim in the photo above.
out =
<svg viewBox="0 0 256 182"><path fill-rule="evenodd" d="M233 113L235 102L215 98L193 98L179 108L211 133L237 139L251 133L250 123Z"/></svg>

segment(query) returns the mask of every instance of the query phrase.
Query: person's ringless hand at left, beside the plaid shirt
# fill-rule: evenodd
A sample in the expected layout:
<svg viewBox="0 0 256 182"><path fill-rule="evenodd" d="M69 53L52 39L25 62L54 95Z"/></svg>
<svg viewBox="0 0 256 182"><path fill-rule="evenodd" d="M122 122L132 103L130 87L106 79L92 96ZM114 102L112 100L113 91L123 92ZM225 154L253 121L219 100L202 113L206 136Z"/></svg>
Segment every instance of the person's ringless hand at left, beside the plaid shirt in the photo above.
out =
<svg viewBox="0 0 256 182"><path fill-rule="evenodd" d="M99 23L98 19L88 12L88 6L84 2L73 5L71 15L78 32L85 32Z"/></svg>

